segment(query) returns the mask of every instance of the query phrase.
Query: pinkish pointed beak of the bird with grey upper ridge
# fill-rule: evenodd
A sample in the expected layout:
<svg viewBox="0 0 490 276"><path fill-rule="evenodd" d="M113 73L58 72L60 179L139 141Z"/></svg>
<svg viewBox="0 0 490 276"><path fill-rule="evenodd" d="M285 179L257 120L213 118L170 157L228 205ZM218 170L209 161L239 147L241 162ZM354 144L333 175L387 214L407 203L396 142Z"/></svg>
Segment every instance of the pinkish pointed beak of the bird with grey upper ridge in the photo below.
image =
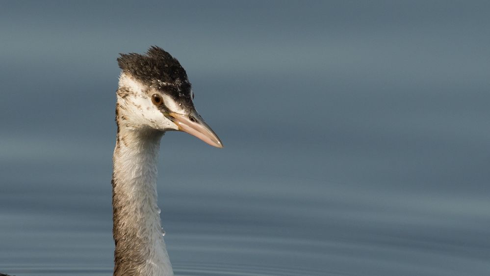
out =
<svg viewBox="0 0 490 276"><path fill-rule="evenodd" d="M193 135L217 148L223 147L223 143L216 133L206 124L196 110L192 110L189 115L175 112L170 112L168 115L174 119L174 123L179 127L180 131Z"/></svg>

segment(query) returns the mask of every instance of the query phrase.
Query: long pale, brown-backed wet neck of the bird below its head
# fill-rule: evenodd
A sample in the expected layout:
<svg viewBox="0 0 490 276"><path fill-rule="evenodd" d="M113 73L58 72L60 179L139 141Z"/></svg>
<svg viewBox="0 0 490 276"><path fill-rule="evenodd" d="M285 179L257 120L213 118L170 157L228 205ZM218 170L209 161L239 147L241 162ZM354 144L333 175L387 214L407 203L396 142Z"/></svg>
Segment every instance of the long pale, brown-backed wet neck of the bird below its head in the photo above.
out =
<svg viewBox="0 0 490 276"><path fill-rule="evenodd" d="M157 158L162 132L118 123L113 156L114 276L172 276L157 206Z"/></svg>

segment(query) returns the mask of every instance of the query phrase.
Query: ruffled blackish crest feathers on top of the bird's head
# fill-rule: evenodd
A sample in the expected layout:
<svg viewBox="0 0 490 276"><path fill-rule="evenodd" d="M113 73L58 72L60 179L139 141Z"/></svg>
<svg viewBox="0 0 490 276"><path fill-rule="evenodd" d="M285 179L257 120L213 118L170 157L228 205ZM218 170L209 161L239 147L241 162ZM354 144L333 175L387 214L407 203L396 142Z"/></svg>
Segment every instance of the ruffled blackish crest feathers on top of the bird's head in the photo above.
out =
<svg viewBox="0 0 490 276"><path fill-rule="evenodd" d="M179 61L163 49L152 46L146 55L119 54L117 63L124 73L142 83L155 85L169 92L189 94L191 84ZM164 87L162 87L164 86Z"/></svg>

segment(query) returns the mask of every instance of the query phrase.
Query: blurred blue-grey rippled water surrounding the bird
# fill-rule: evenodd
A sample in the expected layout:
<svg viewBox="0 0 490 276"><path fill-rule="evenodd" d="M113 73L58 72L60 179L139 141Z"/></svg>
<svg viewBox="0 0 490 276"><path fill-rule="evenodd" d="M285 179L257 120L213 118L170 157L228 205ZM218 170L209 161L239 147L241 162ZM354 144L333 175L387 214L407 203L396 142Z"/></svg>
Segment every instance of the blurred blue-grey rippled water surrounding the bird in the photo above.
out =
<svg viewBox="0 0 490 276"><path fill-rule="evenodd" d="M488 1L2 1L0 272L111 275L118 53L177 57L176 275L489 275Z"/></svg>

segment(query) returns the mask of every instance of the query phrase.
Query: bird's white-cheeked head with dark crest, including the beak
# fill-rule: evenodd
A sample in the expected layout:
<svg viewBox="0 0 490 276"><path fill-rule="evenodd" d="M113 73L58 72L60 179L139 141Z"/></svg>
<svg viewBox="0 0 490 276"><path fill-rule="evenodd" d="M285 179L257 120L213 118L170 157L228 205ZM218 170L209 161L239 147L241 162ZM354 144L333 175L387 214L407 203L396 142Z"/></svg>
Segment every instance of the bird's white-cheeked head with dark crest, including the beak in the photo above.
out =
<svg viewBox="0 0 490 276"><path fill-rule="evenodd" d="M212 146L223 147L196 111L191 84L176 58L155 46L146 55L120 55L119 124L130 129L183 131Z"/></svg>

